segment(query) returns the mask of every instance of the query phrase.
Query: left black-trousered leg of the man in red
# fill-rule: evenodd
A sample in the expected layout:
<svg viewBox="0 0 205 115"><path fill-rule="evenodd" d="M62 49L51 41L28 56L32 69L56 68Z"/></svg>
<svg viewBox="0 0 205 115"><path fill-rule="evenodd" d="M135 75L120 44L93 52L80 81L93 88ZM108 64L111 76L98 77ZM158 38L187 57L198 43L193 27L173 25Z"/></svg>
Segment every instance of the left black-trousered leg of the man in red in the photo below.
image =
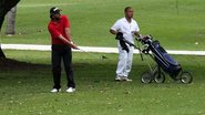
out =
<svg viewBox="0 0 205 115"><path fill-rule="evenodd" d="M53 88L61 88L61 55L59 51L52 51Z"/></svg>

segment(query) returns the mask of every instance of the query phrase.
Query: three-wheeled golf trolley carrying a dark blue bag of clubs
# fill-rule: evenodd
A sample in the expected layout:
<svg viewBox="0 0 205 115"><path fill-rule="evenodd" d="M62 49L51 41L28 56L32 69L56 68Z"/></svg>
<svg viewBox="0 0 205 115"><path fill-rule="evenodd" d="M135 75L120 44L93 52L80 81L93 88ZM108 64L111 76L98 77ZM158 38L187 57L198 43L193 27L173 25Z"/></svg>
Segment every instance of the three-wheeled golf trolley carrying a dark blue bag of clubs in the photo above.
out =
<svg viewBox="0 0 205 115"><path fill-rule="evenodd" d="M139 49L141 59L143 61L143 54L145 56L150 55L155 62L156 66L152 69L151 64L147 62L150 71L143 72L141 75L141 81L143 83L151 83L152 81L156 83L164 83L165 73L168 74L174 81L181 81L182 83L192 83L193 77L189 72L182 70L181 64L178 64L161 45L160 42L153 40L153 36L146 35L144 38L136 39L139 48L123 39L124 42ZM139 42L142 43L143 49L140 49Z"/></svg>

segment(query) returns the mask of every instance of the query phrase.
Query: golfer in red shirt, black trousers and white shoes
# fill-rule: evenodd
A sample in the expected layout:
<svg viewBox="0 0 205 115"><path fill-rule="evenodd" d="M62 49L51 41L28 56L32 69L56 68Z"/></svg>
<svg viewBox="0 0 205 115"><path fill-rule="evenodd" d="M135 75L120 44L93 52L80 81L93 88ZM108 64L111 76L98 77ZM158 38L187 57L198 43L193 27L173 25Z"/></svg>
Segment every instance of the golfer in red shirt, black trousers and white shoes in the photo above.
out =
<svg viewBox="0 0 205 115"><path fill-rule="evenodd" d="M50 18L48 29L52 38L52 73L53 73L53 90L52 93L61 91L61 60L64 63L64 70L68 79L68 90L71 93L75 91L75 83L72 71L72 49L78 49L71 42L70 23L66 15L61 15L60 9L53 7L50 9Z"/></svg>

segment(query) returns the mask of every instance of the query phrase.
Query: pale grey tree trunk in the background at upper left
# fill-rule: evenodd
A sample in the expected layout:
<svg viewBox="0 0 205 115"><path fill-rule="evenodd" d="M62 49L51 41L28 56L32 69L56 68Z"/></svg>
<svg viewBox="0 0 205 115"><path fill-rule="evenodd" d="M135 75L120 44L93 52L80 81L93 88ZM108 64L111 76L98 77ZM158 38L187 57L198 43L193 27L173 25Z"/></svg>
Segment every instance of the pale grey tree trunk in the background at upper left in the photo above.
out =
<svg viewBox="0 0 205 115"><path fill-rule="evenodd" d="M17 13L17 6L13 7L8 13L7 13L7 29L6 34L7 35L14 35L14 25L16 25L16 13Z"/></svg>

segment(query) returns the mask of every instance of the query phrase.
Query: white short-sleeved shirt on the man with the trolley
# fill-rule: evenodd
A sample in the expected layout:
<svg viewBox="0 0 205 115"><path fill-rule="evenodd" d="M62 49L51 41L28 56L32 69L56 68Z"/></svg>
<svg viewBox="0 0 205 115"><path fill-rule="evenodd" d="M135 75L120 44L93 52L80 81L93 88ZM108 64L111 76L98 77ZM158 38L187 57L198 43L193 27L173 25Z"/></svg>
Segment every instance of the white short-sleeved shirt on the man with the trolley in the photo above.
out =
<svg viewBox="0 0 205 115"><path fill-rule="evenodd" d="M111 29L116 32L122 32L124 39L126 39L127 41L130 41L132 43L134 43L134 34L132 32L140 31L139 24L136 23L136 21L134 19L132 19L131 23L130 23L125 18L119 19L113 24L113 27L111 27Z"/></svg>

